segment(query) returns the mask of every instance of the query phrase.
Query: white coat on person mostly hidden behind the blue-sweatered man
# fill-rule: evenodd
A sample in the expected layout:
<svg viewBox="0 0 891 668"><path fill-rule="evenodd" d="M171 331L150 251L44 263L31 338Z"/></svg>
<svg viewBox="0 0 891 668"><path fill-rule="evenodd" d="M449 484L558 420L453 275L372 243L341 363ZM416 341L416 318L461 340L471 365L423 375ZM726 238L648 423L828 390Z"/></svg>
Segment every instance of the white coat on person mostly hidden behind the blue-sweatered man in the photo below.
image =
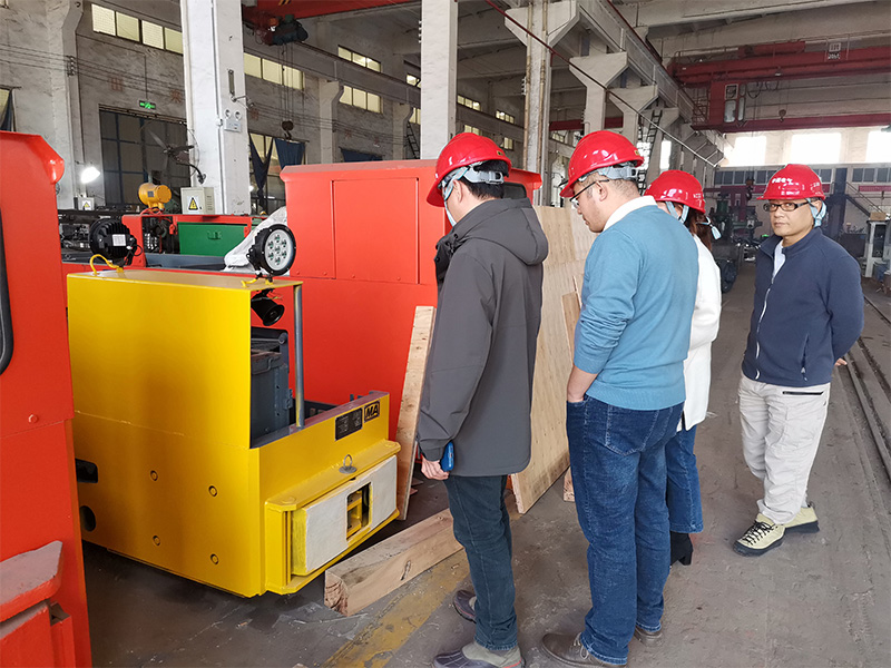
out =
<svg viewBox="0 0 891 668"><path fill-rule="evenodd" d="M689 332L689 352L684 360L684 418L681 429L689 429L705 420L708 409L708 387L712 382L712 342L717 337L721 318L721 269L708 248L696 237L699 278L696 283L696 305Z"/></svg>

